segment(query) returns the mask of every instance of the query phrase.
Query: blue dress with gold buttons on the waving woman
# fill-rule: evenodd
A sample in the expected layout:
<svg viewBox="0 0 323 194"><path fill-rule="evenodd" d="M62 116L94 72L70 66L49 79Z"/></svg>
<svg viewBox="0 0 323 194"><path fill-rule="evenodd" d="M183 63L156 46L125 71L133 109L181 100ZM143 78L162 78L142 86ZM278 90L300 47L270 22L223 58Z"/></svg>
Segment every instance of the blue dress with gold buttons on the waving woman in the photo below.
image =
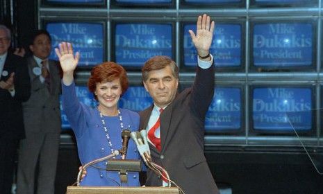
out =
<svg viewBox="0 0 323 194"><path fill-rule="evenodd" d="M111 154L111 149L122 148L119 116L103 116L108 129L108 135L112 146L106 138L103 130L99 111L88 107L78 101L75 91L75 83L66 86L62 83L63 110L76 136L78 157L81 164L87 164L94 159L106 157ZM137 131L139 127L139 115L129 109L119 109L122 116L123 129ZM116 159L120 159L117 156ZM135 143L129 140L126 159L140 159ZM128 182L121 183L117 171L106 170L107 161L101 161L87 168L87 175L81 181L81 186L140 186L137 172L128 172Z"/></svg>

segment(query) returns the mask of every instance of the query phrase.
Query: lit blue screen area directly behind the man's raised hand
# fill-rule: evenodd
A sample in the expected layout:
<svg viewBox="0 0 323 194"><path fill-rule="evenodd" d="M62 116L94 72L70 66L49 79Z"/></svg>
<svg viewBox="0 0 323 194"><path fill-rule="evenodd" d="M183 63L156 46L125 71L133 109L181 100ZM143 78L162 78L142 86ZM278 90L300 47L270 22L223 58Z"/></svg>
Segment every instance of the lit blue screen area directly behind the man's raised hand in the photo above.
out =
<svg viewBox="0 0 323 194"><path fill-rule="evenodd" d="M183 55L186 67L197 66L197 51L188 30L196 32L196 24L184 26ZM241 25L216 24L213 42L210 48L217 67L240 67L241 60Z"/></svg>

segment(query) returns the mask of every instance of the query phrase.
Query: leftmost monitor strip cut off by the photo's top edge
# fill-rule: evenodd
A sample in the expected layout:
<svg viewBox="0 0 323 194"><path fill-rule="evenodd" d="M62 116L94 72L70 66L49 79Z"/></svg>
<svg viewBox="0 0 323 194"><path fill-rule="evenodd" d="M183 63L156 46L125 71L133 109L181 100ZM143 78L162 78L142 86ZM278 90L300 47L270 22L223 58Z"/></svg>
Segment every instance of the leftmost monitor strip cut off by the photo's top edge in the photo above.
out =
<svg viewBox="0 0 323 194"><path fill-rule="evenodd" d="M42 6L106 7L106 0L41 0Z"/></svg>

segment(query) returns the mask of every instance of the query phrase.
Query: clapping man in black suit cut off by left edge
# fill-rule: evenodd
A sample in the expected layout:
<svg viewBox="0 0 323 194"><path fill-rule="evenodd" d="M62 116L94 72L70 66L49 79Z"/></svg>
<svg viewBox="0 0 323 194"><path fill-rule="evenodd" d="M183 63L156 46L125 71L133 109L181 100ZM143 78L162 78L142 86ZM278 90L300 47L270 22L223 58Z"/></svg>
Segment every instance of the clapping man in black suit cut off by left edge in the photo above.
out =
<svg viewBox="0 0 323 194"><path fill-rule="evenodd" d="M11 193L15 154L24 139L22 102L28 100L31 86L26 60L8 52L11 35L0 25L0 193Z"/></svg>

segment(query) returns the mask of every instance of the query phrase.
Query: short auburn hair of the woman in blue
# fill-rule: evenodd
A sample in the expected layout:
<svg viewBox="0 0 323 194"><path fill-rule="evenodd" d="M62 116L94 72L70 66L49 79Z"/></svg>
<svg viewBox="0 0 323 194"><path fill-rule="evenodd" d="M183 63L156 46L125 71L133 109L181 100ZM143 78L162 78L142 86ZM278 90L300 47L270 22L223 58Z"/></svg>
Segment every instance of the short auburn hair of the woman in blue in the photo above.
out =
<svg viewBox="0 0 323 194"><path fill-rule="evenodd" d="M94 93L97 88L97 83L111 82L117 78L120 79L122 94L124 94L126 89L129 87L126 70L115 62L103 62L93 67L91 76L88 80L88 88L92 93ZM94 97L97 99L97 96L94 95Z"/></svg>

